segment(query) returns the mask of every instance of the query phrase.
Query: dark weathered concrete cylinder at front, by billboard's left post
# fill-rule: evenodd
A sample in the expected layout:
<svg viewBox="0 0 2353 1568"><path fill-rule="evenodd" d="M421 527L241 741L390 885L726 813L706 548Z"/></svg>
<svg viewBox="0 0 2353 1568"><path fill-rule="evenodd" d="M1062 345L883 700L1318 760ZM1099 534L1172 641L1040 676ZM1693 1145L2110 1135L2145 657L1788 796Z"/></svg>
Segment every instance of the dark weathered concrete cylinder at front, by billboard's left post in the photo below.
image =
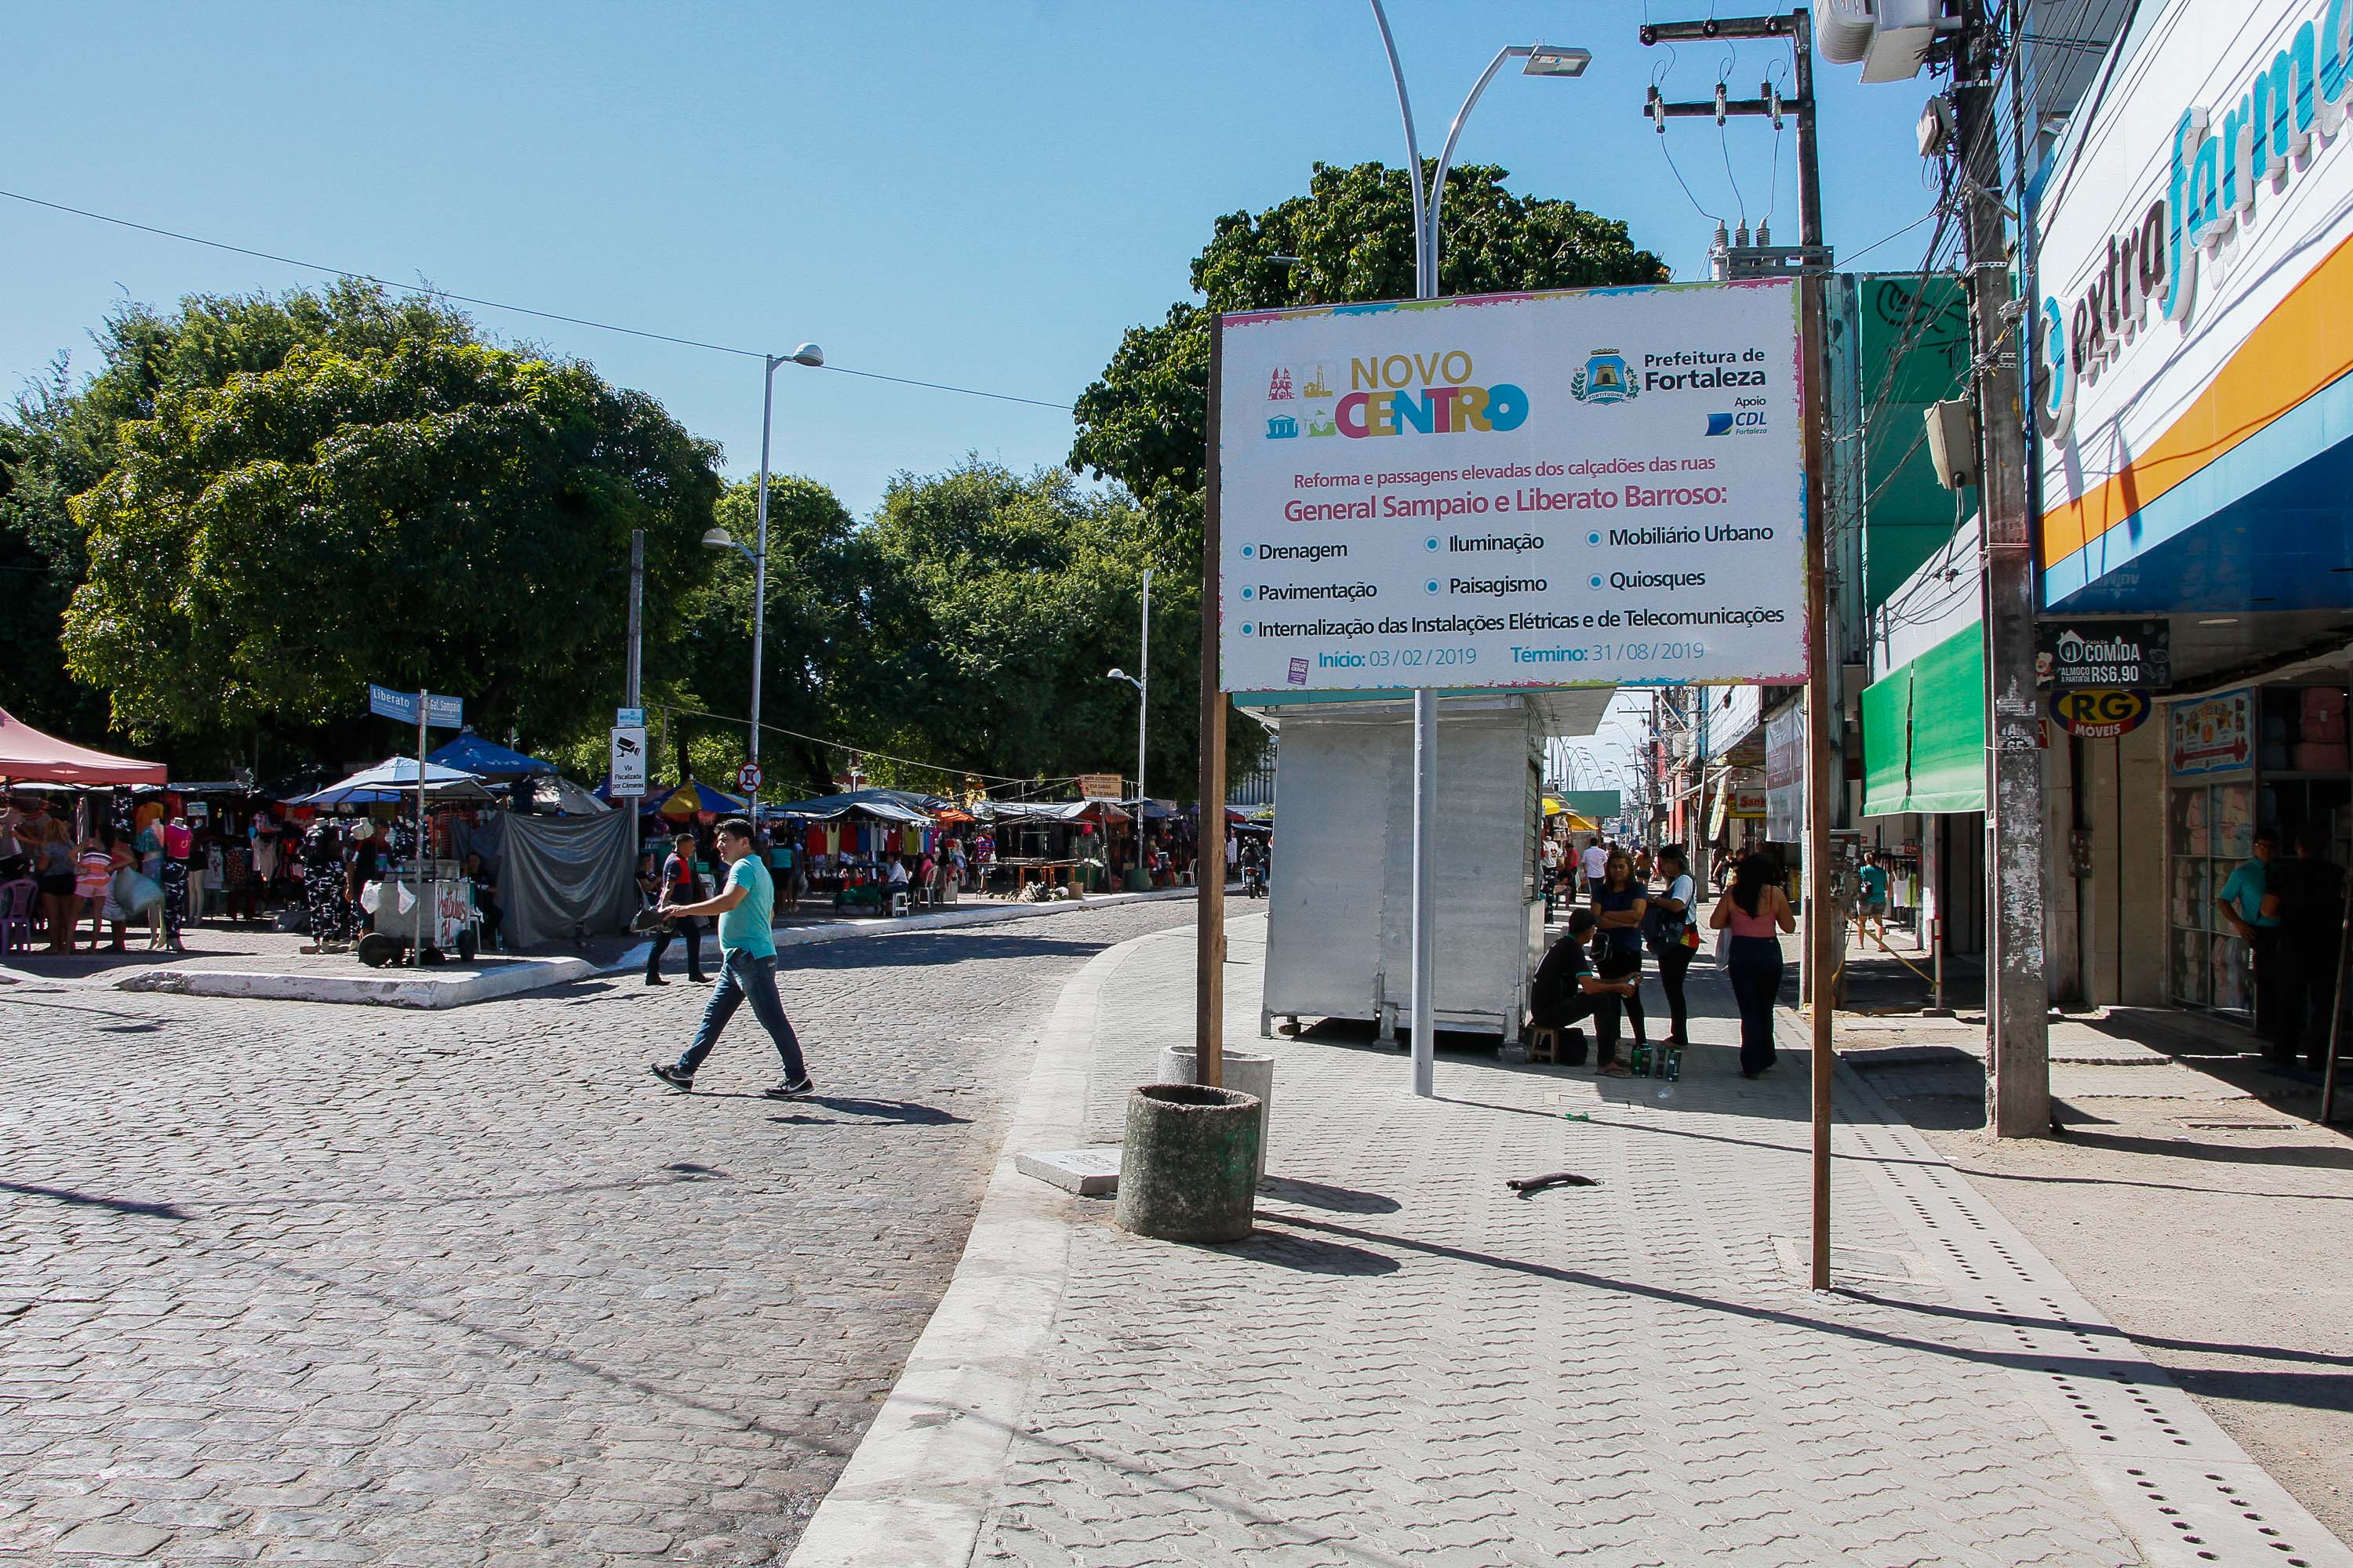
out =
<svg viewBox="0 0 2353 1568"><path fill-rule="evenodd" d="M1127 1095L1120 1229L1160 1241L1240 1241L1259 1187L1257 1095L1141 1084Z"/></svg>

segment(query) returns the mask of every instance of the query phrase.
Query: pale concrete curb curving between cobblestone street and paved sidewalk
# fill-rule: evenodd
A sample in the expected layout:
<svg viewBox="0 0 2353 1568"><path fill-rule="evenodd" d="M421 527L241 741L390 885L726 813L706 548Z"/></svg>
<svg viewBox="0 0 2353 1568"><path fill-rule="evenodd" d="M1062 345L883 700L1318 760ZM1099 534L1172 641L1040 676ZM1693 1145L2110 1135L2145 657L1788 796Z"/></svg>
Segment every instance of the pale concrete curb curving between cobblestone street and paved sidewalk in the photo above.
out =
<svg viewBox="0 0 2353 1568"><path fill-rule="evenodd" d="M1144 940L1106 947L1064 985L955 1279L791 1568L972 1561L1071 1274L1073 1199L1021 1175L1014 1159L1085 1143L1094 1018L1111 976Z"/></svg>

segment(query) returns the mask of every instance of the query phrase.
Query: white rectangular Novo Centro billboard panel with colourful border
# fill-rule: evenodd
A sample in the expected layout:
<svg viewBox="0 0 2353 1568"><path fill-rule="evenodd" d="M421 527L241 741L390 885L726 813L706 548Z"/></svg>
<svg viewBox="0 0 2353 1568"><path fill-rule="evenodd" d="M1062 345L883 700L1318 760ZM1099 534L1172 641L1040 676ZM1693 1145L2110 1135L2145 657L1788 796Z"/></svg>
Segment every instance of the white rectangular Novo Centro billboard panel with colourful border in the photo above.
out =
<svg viewBox="0 0 2353 1568"><path fill-rule="evenodd" d="M1798 289L1224 317L1226 691L1805 679Z"/></svg>

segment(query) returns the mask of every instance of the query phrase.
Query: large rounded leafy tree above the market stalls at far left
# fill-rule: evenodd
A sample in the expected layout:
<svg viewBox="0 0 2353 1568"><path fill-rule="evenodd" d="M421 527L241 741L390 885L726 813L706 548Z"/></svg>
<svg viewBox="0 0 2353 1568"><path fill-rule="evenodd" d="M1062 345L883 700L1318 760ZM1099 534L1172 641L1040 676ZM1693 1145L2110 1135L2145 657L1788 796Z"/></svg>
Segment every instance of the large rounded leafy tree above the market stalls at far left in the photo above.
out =
<svg viewBox="0 0 2353 1568"><path fill-rule="evenodd" d="M379 750L369 679L456 691L489 733L598 724L631 529L661 618L708 574L713 447L581 364L346 303L353 331L311 296L193 301L158 339L151 364L195 369L136 383L111 468L71 501L68 670L129 736L216 750L256 729Z"/></svg>

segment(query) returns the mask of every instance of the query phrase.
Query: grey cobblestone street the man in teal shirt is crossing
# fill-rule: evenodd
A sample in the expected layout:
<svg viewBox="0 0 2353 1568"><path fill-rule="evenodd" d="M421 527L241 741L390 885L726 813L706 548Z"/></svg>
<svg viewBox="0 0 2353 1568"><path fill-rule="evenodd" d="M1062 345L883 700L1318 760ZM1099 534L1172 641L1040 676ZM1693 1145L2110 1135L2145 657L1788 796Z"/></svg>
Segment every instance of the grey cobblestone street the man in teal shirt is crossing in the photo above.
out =
<svg viewBox="0 0 2353 1568"><path fill-rule="evenodd" d="M1191 903L786 952L819 1093L635 976L0 999L0 1561L765 1563L946 1288L1038 1030Z"/></svg>

